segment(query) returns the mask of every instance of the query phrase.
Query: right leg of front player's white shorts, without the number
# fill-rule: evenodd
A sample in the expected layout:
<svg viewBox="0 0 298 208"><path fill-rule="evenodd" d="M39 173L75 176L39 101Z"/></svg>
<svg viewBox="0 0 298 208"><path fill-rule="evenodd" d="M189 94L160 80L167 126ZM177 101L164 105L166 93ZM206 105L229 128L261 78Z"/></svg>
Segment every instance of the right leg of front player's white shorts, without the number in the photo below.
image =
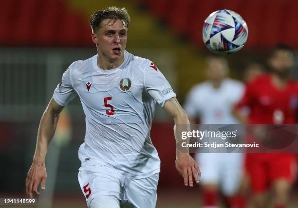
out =
<svg viewBox="0 0 298 208"><path fill-rule="evenodd" d="M126 178L124 197L127 202L123 208L155 208L157 184L158 173L142 179Z"/></svg>

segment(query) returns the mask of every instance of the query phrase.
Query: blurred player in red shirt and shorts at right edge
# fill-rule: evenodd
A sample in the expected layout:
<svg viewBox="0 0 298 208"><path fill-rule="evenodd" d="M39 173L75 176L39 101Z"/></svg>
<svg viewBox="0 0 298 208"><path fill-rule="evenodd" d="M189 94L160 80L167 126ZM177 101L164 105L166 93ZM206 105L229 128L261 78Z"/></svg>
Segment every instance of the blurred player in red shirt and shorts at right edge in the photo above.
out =
<svg viewBox="0 0 298 208"><path fill-rule="evenodd" d="M294 66L293 51L287 46L279 45L272 51L268 63L271 71L247 84L244 96L233 113L242 123L296 123L298 86L289 78L290 69ZM242 106L250 107L248 117L239 110ZM245 166L250 177L255 206L265 208L273 202L274 208L286 208L297 174L295 155L246 154ZM269 191L273 193L271 199Z"/></svg>

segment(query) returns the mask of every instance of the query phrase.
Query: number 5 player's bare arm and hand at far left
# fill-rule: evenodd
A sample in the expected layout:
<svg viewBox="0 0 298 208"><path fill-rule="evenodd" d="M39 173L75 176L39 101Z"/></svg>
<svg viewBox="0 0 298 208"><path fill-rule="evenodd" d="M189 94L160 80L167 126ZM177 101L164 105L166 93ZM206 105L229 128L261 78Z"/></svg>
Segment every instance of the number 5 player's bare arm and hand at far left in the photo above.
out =
<svg viewBox="0 0 298 208"><path fill-rule="evenodd" d="M58 105L52 98L41 117L37 133L36 150L31 168L26 177L26 194L30 198L33 198L33 193L39 195L37 187L40 182L41 189L45 189L45 182L47 178L45 156L47 154L49 144L54 137L59 113L62 109L63 106Z"/></svg>

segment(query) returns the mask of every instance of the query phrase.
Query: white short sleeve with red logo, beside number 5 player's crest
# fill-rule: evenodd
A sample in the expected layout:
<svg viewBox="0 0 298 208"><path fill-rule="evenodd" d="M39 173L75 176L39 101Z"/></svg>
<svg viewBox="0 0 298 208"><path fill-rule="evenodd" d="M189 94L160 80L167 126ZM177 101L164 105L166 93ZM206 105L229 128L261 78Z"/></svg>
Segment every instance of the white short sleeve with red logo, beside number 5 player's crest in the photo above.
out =
<svg viewBox="0 0 298 208"><path fill-rule="evenodd" d="M164 106L168 99L176 97L166 77L150 61L144 71L144 86L147 93L161 106Z"/></svg>

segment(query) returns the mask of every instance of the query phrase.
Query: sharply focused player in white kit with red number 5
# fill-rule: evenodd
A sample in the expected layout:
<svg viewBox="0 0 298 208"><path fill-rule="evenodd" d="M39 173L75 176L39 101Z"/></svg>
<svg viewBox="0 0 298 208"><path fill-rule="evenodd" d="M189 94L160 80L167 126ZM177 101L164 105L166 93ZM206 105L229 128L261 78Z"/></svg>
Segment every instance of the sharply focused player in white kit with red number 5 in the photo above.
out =
<svg viewBox="0 0 298 208"><path fill-rule="evenodd" d="M125 50L130 24L125 8L97 11L90 23L97 54L72 63L55 89L40 121L27 194L39 195L39 183L45 189L44 160L59 113L78 95L86 115L78 180L88 207L154 208L160 159L149 135L155 103L170 114L175 126L189 123L187 114L161 71ZM198 183L201 173L194 159L185 152L176 155L184 184L193 186L193 177Z"/></svg>

